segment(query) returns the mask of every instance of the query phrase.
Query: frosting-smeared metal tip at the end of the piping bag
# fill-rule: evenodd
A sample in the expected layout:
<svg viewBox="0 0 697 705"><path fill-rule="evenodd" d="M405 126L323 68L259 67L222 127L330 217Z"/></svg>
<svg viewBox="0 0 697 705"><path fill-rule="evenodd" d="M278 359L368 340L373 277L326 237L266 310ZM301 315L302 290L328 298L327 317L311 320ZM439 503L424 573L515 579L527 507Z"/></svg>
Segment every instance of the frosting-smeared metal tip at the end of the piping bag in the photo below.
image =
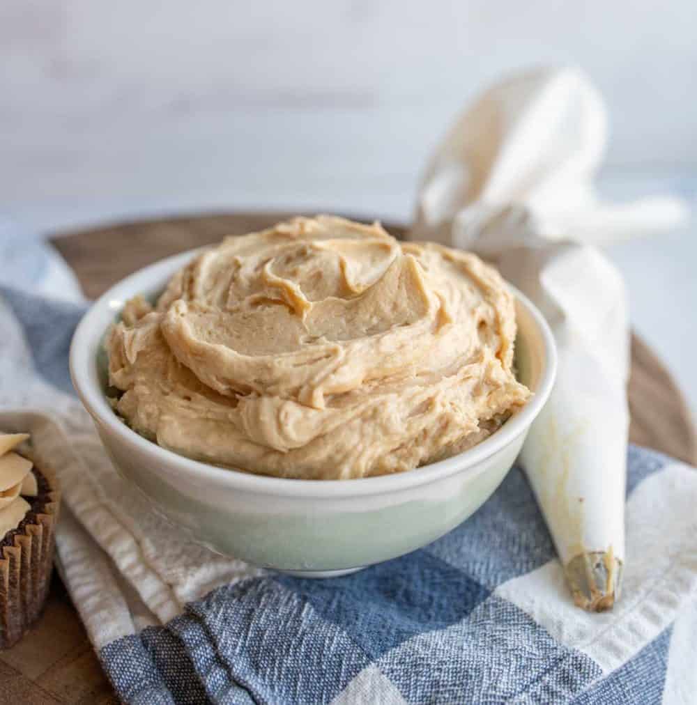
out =
<svg viewBox="0 0 697 705"><path fill-rule="evenodd" d="M612 609L622 589L622 560L609 551L589 551L574 556L564 566L576 606L589 612Z"/></svg>

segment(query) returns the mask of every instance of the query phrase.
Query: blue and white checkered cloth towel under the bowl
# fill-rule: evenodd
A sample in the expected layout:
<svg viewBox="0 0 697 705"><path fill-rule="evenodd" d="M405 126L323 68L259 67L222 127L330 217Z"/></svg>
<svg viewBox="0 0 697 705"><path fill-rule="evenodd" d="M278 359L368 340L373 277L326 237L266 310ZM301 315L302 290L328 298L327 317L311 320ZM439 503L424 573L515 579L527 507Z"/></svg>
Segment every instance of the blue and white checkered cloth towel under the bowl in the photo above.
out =
<svg viewBox="0 0 697 705"><path fill-rule="evenodd" d="M61 572L124 701L697 701L692 468L630 448L612 613L571 602L516 467L446 537L355 575L303 580L214 556L152 516L104 457L68 381L84 304L17 288L69 293L34 247L30 270L0 288L0 406L51 412L25 420L65 491Z"/></svg>

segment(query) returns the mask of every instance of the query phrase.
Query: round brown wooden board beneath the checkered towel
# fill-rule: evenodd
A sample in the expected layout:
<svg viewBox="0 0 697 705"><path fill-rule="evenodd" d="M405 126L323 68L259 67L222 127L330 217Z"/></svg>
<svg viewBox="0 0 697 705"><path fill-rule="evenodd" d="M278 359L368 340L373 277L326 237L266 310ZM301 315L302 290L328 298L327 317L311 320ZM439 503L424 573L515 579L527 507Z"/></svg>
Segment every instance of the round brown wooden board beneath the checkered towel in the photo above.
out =
<svg viewBox="0 0 697 705"><path fill-rule="evenodd" d="M232 213L120 223L61 233L53 243L90 298L140 267L224 235L248 233L288 217ZM400 235L398 226L387 229ZM631 341L630 438L634 443L695 463L695 429L677 386L651 350ZM0 705L116 702L75 608L54 577L44 615L13 649L0 652Z"/></svg>

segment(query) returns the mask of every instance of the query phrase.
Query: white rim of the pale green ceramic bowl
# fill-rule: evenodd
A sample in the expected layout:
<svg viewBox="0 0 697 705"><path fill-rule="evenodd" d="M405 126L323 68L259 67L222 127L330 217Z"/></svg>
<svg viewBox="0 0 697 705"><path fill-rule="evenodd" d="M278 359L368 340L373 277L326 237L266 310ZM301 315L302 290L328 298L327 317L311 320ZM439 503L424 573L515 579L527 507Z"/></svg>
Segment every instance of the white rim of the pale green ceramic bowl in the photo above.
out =
<svg viewBox="0 0 697 705"><path fill-rule="evenodd" d="M200 460L187 458L186 455L175 453L158 446L157 443L145 439L136 431L129 428L114 413L107 403L102 388L90 379L90 368L96 364L98 345L101 345L104 332L108 324L100 324L95 329L97 321L110 312L113 316L115 309L121 302L128 300L145 288L152 286L153 281L162 279L162 285L176 269L186 264L196 254L208 249L198 247L193 250L181 252L165 259L160 259L154 264L135 271L133 274L121 279L102 294L80 320L73 335L70 349L70 372L73 386L87 412L100 424L113 433L119 441L126 446L135 446L144 453L151 455L153 460L159 460L167 467L167 472L176 472L188 478L205 480L211 486L225 486L228 489L252 491L270 496L293 496L296 498L327 498L337 499L347 496L366 496L383 494L386 492L401 491L420 484L430 484L438 479L466 470L475 468L491 455L494 455L505 446L512 443L520 434L532 424L540 410L550 396L557 372L557 349L552 331L547 325L543 315L533 305L526 295L509 284L516 299L530 314L538 332L543 340L545 349L545 365L540 376L540 384L531 400L511 417L503 426L487 439L476 446L464 450L463 453L450 458L422 465L406 472L396 472L374 477L361 477L356 479L291 479L286 477L269 477L267 475L253 474L231 467L211 465ZM165 278L166 277L166 278Z"/></svg>

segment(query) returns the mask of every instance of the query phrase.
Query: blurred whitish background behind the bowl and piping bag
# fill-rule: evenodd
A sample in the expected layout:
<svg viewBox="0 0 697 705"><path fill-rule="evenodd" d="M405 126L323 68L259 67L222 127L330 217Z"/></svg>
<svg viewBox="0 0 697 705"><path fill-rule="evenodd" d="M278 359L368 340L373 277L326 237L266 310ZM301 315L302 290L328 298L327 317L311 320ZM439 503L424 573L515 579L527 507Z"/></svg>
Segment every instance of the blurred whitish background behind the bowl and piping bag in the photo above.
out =
<svg viewBox="0 0 697 705"><path fill-rule="evenodd" d="M0 214L40 231L208 207L408 219L468 99L547 62L605 94L606 190L693 198L696 20L693 0L3 0ZM694 317L656 324L697 304L694 234L612 255L697 401Z"/></svg>

